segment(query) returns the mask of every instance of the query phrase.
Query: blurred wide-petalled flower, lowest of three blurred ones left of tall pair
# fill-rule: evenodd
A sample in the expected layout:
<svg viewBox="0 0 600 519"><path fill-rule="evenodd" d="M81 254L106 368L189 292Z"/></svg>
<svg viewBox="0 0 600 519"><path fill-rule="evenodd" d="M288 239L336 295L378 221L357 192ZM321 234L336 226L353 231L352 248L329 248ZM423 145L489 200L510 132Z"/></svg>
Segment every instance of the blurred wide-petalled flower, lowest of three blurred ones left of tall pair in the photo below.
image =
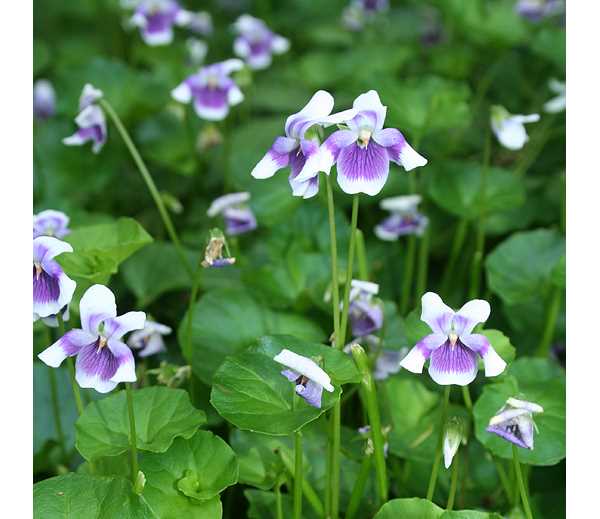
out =
<svg viewBox="0 0 600 519"><path fill-rule="evenodd" d="M194 101L198 117L208 121L221 121L227 117L229 107L240 104L244 94L229 76L244 68L239 59L228 59L202 67L171 92L180 103Z"/></svg>

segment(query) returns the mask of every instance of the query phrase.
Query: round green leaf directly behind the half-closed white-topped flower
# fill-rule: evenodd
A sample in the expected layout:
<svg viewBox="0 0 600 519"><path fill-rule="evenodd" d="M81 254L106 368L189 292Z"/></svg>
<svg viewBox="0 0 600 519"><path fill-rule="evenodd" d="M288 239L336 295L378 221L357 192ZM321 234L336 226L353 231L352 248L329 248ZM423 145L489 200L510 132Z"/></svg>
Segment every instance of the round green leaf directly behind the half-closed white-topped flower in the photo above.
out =
<svg viewBox="0 0 600 519"><path fill-rule="evenodd" d="M323 391L321 409L304 400L298 400L294 408L294 385L281 375L284 368L273 360L283 348L322 361L335 391ZM358 378L351 358L341 351L289 336L263 337L256 346L225 359L215 374L210 401L223 418L240 429L283 436L318 418L340 397L341 384Z"/></svg>

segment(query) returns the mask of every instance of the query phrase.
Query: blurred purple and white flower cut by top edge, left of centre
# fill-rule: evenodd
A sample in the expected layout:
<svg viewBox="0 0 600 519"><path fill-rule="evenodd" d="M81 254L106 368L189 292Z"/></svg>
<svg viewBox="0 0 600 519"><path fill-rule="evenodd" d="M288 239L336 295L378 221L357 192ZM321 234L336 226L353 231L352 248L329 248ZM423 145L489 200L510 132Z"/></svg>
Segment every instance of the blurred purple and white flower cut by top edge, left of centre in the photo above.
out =
<svg viewBox="0 0 600 519"><path fill-rule="evenodd" d="M139 27L147 45L168 45L173 41L173 26L187 25L191 15L175 0L142 0L136 6L130 24Z"/></svg>

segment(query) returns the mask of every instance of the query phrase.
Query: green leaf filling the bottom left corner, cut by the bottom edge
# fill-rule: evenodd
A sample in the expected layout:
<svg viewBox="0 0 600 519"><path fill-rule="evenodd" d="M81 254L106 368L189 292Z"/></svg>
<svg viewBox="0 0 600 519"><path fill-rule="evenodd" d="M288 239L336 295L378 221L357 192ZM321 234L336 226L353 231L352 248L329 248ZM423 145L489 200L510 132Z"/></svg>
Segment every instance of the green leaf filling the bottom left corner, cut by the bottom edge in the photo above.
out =
<svg viewBox="0 0 600 519"><path fill-rule="evenodd" d="M133 492L125 478L66 474L33 486L35 519L166 519Z"/></svg>

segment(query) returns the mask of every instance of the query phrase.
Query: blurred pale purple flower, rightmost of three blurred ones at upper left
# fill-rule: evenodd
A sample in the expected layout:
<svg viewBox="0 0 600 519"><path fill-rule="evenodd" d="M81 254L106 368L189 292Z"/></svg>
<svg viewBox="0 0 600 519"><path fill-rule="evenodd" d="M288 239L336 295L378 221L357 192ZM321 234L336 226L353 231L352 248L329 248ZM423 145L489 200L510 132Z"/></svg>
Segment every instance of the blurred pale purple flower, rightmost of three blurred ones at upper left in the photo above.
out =
<svg viewBox="0 0 600 519"><path fill-rule="evenodd" d="M251 69L267 68L273 54L283 54L290 48L289 40L273 33L265 22L249 14L240 16L234 29L239 36L233 43L233 52Z"/></svg>

